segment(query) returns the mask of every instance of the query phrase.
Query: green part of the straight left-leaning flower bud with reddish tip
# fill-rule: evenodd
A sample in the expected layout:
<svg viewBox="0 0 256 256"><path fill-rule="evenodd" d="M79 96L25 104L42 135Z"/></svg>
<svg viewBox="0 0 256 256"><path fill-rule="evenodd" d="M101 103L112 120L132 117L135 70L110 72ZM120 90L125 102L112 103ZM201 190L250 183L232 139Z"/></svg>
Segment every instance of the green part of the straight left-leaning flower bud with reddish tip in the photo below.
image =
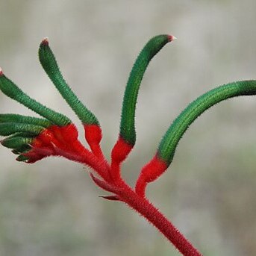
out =
<svg viewBox="0 0 256 256"><path fill-rule="evenodd" d="M69 85L66 84L47 39L44 39L40 44L39 58L43 69L45 69L63 99L66 100L81 122L84 125L99 125L96 116L84 106L75 93L72 92Z"/></svg>

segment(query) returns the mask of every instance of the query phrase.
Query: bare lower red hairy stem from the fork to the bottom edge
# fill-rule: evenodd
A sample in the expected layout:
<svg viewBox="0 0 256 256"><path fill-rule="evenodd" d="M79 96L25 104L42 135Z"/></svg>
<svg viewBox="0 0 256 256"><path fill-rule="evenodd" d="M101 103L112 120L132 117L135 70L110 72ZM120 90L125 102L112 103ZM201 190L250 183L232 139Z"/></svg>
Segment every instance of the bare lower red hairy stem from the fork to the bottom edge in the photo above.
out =
<svg viewBox="0 0 256 256"><path fill-rule="evenodd" d="M148 199L137 195L124 181L120 181L117 193L121 201L148 219L184 256L200 256L200 252L163 216L163 213L152 205Z"/></svg>

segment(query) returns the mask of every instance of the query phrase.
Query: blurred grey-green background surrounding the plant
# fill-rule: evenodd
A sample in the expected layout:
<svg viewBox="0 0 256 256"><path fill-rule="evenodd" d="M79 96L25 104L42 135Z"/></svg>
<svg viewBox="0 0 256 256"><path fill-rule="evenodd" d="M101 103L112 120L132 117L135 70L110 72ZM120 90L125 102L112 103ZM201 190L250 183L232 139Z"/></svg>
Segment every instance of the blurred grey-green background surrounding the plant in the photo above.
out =
<svg viewBox="0 0 256 256"><path fill-rule="evenodd" d="M101 121L109 158L135 57L154 35L178 37L143 80L137 146L122 171L133 185L189 102L255 78L255 10L255 0L0 0L0 66L30 96L79 123L37 60L49 37L66 80ZM149 185L149 199L204 255L256 255L255 108L256 97L240 97L208 110L168 172ZM0 110L30 114L2 94ZM3 147L0 161L0 255L178 255L137 213L99 198L104 191L78 163L26 165Z"/></svg>

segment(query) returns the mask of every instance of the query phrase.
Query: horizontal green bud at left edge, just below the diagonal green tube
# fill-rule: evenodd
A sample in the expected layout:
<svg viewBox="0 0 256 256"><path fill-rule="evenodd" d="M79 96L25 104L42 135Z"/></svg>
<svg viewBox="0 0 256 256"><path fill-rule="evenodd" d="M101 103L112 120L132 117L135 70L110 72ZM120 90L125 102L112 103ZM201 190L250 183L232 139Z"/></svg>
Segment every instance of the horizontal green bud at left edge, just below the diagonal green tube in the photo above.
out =
<svg viewBox="0 0 256 256"><path fill-rule="evenodd" d="M15 134L16 132L26 132L26 133L38 135L43 131L43 129L45 128L39 125L22 124L19 122L0 123L1 136Z"/></svg>

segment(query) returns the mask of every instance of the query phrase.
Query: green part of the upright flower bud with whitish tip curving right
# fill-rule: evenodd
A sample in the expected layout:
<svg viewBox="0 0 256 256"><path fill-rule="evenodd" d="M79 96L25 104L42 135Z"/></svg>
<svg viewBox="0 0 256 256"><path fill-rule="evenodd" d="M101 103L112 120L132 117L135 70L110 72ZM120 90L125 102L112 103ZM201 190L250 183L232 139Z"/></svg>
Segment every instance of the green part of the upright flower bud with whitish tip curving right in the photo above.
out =
<svg viewBox="0 0 256 256"><path fill-rule="evenodd" d="M157 54L166 43L174 40L175 38L168 35L159 35L153 37L140 51L137 60L131 69L130 76L125 88L125 95L122 102L122 116L119 134L122 138L132 146L136 141L135 132L135 108L137 103L137 96L140 88L140 83L143 79L144 72L149 65L150 60Z"/></svg>

